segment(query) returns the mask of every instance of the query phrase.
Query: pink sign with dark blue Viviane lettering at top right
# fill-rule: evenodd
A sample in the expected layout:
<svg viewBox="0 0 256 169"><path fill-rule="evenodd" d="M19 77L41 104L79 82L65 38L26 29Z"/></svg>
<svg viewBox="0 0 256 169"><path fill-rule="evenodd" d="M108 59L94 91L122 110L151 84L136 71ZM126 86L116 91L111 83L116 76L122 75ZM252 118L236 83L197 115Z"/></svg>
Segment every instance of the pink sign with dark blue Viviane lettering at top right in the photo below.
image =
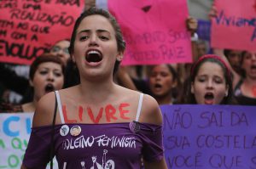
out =
<svg viewBox="0 0 256 169"><path fill-rule="evenodd" d="M256 50L256 1L216 0L212 19L212 47Z"/></svg>

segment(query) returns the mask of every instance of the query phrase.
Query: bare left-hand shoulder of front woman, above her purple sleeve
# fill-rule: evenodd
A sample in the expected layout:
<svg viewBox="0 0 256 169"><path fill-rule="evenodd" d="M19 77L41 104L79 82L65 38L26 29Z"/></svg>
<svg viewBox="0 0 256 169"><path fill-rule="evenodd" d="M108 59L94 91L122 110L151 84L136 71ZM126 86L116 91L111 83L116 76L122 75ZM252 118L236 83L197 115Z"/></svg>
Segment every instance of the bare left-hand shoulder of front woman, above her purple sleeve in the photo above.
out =
<svg viewBox="0 0 256 169"><path fill-rule="evenodd" d="M47 93L39 99L32 127L49 126L52 123L55 110L55 93Z"/></svg>

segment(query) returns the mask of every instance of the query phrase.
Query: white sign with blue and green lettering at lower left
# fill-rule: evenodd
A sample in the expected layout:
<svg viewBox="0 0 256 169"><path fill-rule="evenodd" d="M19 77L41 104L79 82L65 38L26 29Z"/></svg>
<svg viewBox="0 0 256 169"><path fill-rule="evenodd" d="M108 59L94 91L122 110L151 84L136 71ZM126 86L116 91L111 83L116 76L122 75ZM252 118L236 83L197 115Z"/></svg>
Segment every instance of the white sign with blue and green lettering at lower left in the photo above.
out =
<svg viewBox="0 0 256 169"><path fill-rule="evenodd" d="M20 169L31 133L32 115L0 114L0 168ZM55 160L54 168L58 168Z"/></svg>

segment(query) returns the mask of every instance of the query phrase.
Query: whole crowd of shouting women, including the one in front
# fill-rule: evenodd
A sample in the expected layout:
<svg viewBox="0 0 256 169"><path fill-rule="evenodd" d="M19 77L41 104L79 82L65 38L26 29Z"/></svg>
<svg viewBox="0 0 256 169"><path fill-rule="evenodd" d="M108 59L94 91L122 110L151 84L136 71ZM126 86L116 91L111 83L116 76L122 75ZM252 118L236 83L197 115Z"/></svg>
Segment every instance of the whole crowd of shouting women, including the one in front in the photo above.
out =
<svg viewBox="0 0 256 169"><path fill-rule="evenodd" d="M213 11L211 17L217 14ZM53 138L56 143L54 155L61 168L74 168L83 162L79 158L73 159L73 156L83 155L79 150L73 155L62 155L60 143L63 141L62 134L65 134L61 132L64 126L71 129L80 127L70 132L70 138L76 137L76 132L85 134L85 131L95 137L105 132L117 134L121 131L125 135L133 132L132 137L142 139L143 144L137 142L137 149L131 151L133 155L127 154L127 158L118 155L123 152L122 149L112 152L115 163L109 161L113 162L109 164L122 166L125 163L128 168L142 165L145 168L166 168L160 105L256 105L256 51L210 50L207 42L196 37L197 20L189 17L184 22L191 34L192 63L120 65L126 45L118 23L107 10L89 8L76 21L71 39L55 42L49 53L38 56L32 62L28 78L1 64L0 70L4 73L0 79L4 90L0 113L35 112L32 135L21 167L46 166L49 162L52 157L49 156L52 144L49 142L50 125L56 109L59 113L54 118L54 132L58 132ZM21 95L18 103L8 99L10 90ZM82 119L82 115L71 113L78 107L80 109L82 104L88 105L88 111L91 107L94 110L103 109L104 105L111 105L113 110L114 106L128 106L132 113L111 119L108 112L106 117L97 116L100 119ZM63 106L65 109L62 110ZM110 109L107 107L106 111ZM72 116L74 122L64 119L64 114ZM135 121L131 122L131 119ZM111 129L108 130L107 125ZM139 132L136 131L137 125ZM152 128L154 133L148 134ZM102 149L92 147L86 155L92 155L92 151L102 153Z"/></svg>

